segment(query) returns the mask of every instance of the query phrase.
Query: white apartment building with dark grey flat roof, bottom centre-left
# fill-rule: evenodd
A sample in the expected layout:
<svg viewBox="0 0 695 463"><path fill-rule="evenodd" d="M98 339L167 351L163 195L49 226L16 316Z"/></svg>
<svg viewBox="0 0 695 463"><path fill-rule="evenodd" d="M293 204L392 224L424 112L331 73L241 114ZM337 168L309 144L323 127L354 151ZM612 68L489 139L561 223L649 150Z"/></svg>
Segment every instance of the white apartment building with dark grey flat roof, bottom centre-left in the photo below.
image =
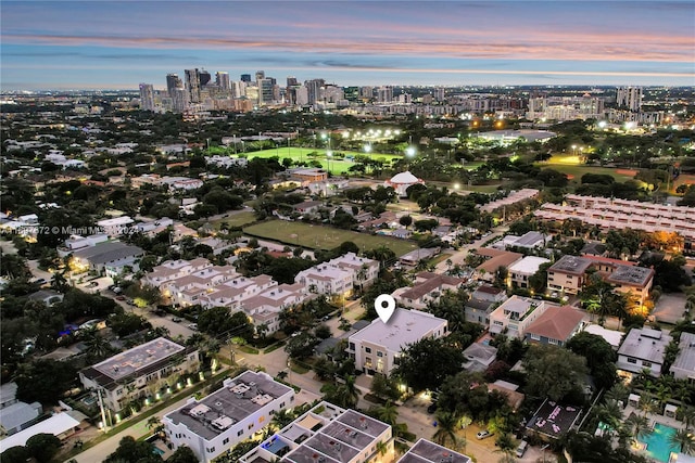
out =
<svg viewBox="0 0 695 463"><path fill-rule="evenodd" d="M189 447L207 463L270 424L273 414L292 408L294 389L264 372L247 371L227 378L201 400L164 415L164 432L175 448Z"/></svg>

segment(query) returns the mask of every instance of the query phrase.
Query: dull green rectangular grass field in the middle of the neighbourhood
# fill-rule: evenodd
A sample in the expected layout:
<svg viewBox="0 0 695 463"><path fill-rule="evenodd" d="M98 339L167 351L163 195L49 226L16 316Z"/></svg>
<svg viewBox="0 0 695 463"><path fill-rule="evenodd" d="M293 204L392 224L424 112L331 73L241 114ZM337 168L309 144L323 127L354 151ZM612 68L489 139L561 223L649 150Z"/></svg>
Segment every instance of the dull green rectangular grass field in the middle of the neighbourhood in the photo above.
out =
<svg viewBox="0 0 695 463"><path fill-rule="evenodd" d="M388 236L377 236L350 230L338 230L330 227L280 220L256 223L251 227L245 227L243 231L255 236L280 241L287 244L300 244L313 249L332 249L345 241L352 241L359 246L359 248L374 249L375 247L387 246L392 249L396 256L402 256L413 250L415 246L408 241Z"/></svg>

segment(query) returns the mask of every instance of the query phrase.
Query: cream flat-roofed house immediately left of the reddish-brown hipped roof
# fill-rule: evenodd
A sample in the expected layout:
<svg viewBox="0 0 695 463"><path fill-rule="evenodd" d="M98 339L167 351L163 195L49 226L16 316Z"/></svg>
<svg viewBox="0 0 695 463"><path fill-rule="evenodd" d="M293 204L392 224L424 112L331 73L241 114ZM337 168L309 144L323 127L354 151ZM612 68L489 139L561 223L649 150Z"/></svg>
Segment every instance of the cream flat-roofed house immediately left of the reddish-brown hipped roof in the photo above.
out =
<svg viewBox="0 0 695 463"><path fill-rule="evenodd" d="M528 326L548 308L544 300L514 295L490 314L490 333L523 339Z"/></svg>

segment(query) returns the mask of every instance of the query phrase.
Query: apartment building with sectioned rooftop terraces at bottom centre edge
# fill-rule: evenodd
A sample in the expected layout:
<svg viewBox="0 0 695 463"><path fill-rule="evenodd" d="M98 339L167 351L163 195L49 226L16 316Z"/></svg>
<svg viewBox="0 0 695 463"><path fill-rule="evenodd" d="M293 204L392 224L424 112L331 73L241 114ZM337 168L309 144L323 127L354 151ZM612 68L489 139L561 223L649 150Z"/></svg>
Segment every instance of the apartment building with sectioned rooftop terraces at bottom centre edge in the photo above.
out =
<svg viewBox="0 0 695 463"><path fill-rule="evenodd" d="M324 401L265 439L239 462L364 463L391 462L394 456L391 426Z"/></svg>

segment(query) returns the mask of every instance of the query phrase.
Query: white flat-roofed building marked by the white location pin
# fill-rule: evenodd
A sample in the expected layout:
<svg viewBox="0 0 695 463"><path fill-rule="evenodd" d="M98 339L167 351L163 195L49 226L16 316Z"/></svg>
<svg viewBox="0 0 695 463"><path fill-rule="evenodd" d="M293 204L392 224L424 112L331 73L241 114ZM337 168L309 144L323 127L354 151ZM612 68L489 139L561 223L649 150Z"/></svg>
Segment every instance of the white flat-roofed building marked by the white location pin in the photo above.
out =
<svg viewBox="0 0 695 463"><path fill-rule="evenodd" d="M355 368L372 375L389 374L399 364L403 349L426 337L448 334L448 322L418 310L395 309L389 323L374 320L348 338L348 353Z"/></svg>

